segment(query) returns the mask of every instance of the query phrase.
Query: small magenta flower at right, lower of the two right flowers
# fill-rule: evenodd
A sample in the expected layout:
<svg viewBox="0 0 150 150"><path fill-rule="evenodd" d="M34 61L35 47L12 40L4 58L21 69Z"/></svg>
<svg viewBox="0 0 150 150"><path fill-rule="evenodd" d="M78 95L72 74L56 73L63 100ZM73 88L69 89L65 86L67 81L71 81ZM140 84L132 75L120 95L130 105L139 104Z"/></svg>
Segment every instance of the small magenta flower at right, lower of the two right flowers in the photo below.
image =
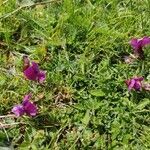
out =
<svg viewBox="0 0 150 150"><path fill-rule="evenodd" d="M129 80L126 80L125 83L128 86L128 90L135 89L136 91L140 91L142 88L143 77L134 77Z"/></svg>

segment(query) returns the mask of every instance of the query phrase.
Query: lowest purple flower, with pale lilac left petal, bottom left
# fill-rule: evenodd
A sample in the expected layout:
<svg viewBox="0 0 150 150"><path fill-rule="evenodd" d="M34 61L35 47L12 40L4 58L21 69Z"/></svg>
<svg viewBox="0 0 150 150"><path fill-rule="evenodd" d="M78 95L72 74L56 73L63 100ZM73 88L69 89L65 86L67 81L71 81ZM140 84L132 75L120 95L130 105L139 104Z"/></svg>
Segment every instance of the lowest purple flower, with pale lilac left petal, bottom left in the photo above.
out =
<svg viewBox="0 0 150 150"><path fill-rule="evenodd" d="M30 102L31 94L25 95L22 104L13 107L12 112L17 116L22 116L24 114L28 116L36 116L37 107L35 104Z"/></svg>

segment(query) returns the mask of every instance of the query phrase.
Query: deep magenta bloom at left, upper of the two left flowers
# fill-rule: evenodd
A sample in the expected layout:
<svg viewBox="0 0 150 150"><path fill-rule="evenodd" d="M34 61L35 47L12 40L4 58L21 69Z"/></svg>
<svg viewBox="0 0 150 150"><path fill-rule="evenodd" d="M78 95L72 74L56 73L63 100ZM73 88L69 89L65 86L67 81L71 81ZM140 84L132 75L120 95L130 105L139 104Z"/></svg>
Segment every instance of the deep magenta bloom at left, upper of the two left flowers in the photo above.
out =
<svg viewBox="0 0 150 150"><path fill-rule="evenodd" d="M25 69L23 73L27 79L38 81L39 83L43 83L46 79L46 72L40 70L38 64L35 62L32 62L32 65Z"/></svg>

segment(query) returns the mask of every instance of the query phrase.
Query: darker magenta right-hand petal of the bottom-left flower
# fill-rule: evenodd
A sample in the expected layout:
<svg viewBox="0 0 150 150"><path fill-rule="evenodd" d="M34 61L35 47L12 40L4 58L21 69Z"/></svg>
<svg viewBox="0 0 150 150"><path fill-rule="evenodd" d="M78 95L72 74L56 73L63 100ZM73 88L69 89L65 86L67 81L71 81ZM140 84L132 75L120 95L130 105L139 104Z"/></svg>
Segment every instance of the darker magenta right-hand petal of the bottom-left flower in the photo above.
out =
<svg viewBox="0 0 150 150"><path fill-rule="evenodd" d="M36 107L35 104L30 102L29 100L24 100L22 102L22 105L23 105L25 113L28 116L36 116L36 114L37 114L37 107Z"/></svg>

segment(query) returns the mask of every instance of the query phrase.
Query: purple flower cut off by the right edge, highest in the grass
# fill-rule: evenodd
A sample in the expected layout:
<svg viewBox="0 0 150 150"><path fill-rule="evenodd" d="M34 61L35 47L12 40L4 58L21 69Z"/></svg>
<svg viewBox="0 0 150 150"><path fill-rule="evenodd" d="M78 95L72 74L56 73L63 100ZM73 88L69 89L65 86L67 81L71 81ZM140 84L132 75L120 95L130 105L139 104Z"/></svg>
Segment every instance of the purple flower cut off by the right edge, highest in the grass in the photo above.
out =
<svg viewBox="0 0 150 150"><path fill-rule="evenodd" d="M143 47L150 44L150 37L143 37L141 39L133 38L130 42L132 48L134 49L135 55L140 58L144 57Z"/></svg>

